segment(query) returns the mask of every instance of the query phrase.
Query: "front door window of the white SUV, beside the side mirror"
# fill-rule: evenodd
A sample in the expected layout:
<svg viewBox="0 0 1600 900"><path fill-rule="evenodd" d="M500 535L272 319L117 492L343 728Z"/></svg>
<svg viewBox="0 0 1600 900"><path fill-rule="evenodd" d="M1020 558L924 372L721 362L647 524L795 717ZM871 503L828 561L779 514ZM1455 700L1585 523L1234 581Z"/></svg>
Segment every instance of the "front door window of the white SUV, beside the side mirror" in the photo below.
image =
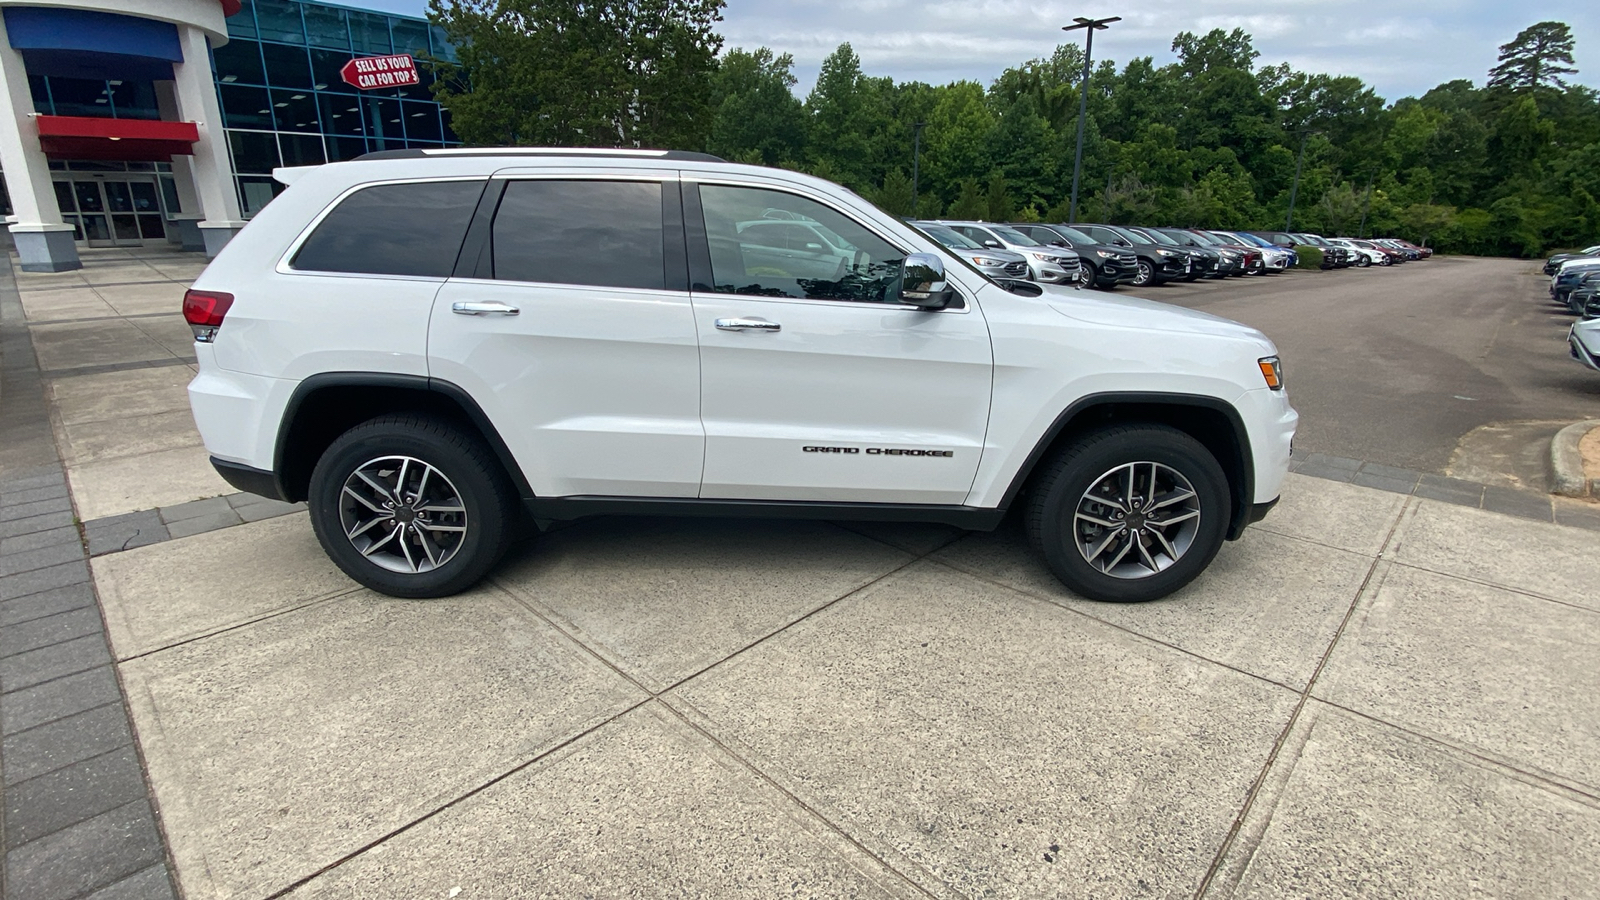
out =
<svg viewBox="0 0 1600 900"><path fill-rule="evenodd" d="M816 200L702 184L714 290L888 303L906 253Z"/></svg>

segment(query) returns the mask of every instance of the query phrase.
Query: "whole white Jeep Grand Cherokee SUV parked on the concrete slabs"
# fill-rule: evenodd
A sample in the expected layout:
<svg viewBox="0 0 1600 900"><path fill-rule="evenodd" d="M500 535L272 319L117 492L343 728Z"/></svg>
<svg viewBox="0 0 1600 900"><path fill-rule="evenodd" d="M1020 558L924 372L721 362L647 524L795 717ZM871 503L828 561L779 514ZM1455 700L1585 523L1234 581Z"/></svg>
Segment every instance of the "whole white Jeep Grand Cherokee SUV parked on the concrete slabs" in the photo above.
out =
<svg viewBox="0 0 1600 900"><path fill-rule="evenodd" d="M275 175L184 299L195 421L222 477L309 501L387 594L470 586L523 517L987 530L1019 509L1069 588L1147 601L1288 469L1298 416L1259 331L1002 287L827 181L659 151ZM821 240L786 255L766 221Z"/></svg>

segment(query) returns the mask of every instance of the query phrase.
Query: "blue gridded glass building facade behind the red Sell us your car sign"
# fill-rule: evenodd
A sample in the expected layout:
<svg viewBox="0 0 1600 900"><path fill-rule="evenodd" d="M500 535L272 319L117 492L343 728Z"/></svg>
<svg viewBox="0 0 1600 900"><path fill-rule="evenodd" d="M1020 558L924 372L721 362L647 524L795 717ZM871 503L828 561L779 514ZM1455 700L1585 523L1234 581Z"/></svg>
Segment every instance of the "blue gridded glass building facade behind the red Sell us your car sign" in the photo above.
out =
<svg viewBox="0 0 1600 900"><path fill-rule="evenodd" d="M422 83L405 88L358 91L339 77L357 56L454 59L443 32L426 19L301 0L243 0L227 18L227 34L211 62L246 216L283 189L272 181L275 167L461 143L450 114L432 99L426 66L418 66ZM37 96L35 90L35 102Z"/></svg>

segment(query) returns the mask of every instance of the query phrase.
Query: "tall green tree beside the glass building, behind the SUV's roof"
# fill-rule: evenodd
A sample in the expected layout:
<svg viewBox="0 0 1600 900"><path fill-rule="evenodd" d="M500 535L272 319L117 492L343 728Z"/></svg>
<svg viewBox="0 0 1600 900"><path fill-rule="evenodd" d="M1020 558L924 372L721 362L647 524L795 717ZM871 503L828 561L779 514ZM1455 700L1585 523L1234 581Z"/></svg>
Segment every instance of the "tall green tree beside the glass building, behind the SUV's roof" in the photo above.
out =
<svg viewBox="0 0 1600 900"><path fill-rule="evenodd" d="M722 0L429 0L434 96L469 144L701 147Z"/></svg>

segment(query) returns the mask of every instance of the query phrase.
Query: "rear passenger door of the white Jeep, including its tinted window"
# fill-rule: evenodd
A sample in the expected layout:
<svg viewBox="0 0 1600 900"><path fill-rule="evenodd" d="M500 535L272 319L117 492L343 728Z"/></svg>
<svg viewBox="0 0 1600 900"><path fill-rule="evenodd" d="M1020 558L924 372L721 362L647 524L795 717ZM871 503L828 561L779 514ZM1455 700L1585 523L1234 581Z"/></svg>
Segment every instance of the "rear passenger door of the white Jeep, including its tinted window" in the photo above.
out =
<svg viewBox="0 0 1600 900"><path fill-rule="evenodd" d="M501 173L462 258L434 303L430 373L478 400L536 495L699 493L675 171Z"/></svg>

